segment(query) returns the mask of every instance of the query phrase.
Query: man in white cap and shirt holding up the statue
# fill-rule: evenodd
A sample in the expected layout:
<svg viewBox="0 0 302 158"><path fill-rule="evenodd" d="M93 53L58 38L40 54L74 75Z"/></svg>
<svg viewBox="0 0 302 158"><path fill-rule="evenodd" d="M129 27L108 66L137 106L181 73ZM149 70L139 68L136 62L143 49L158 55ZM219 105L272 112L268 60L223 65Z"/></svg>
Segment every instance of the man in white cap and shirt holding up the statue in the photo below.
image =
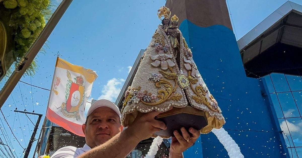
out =
<svg viewBox="0 0 302 158"><path fill-rule="evenodd" d="M139 113L132 125L122 131L118 107L111 101L98 100L89 108L86 122L82 125L86 140L84 147L63 147L51 158L124 158L140 141L167 128L164 122L154 119L159 113ZM169 154L172 158L182 158L182 152L191 147L200 135L193 128L189 129L192 137L184 128L181 131L182 135L174 131Z"/></svg>

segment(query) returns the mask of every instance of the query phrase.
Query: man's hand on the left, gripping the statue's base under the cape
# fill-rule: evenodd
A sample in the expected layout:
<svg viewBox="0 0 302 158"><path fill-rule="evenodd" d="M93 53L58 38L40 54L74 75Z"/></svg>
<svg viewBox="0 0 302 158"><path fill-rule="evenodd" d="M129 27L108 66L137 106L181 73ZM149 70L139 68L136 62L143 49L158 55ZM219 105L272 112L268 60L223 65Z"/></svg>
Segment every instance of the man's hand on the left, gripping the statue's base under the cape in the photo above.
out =
<svg viewBox="0 0 302 158"><path fill-rule="evenodd" d="M126 129L127 132L135 136L139 141L142 141L150 138L155 132L161 129L167 129L164 122L155 119L155 116L160 113L162 112L138 113L133 123Z"/></svg>

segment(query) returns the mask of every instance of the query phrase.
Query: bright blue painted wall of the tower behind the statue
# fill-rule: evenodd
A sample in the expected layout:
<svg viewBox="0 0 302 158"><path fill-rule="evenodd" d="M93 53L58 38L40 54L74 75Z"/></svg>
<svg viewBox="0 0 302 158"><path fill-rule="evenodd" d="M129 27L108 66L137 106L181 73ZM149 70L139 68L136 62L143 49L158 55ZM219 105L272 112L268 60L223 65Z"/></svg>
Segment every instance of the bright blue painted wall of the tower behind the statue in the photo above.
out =
<svg viewBox="0 0 302 158"><path fill-rule="evenodd" d="M199 72L226 119L224 129L245 157L288 157L261 79L246 77L233 31L223 25L200 27L185 19L179 26ZM200 145L197 142L195 145ZM228 157L213 133L201 135L204 158ZM194 147L185 156L196 156Z"/></svg>

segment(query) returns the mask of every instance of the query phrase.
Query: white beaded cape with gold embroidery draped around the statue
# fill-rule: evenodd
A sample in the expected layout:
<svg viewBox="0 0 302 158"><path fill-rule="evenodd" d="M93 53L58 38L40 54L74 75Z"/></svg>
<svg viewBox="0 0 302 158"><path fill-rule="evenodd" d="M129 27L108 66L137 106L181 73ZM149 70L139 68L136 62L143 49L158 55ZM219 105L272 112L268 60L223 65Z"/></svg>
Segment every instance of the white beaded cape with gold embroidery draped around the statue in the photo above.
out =
<svg viewBox="0 0 302 158"><path fill-rule="evenodd" d="M138 112L165 112L170 107L190 105L203 110L208 125L200 130L208 133L225 123L217 101L210 94L192 58L191 49L178 29L179 65L173 54L165 27L158 26L147 47L132 85L125 93L121 123L131 125Z"/></svg>

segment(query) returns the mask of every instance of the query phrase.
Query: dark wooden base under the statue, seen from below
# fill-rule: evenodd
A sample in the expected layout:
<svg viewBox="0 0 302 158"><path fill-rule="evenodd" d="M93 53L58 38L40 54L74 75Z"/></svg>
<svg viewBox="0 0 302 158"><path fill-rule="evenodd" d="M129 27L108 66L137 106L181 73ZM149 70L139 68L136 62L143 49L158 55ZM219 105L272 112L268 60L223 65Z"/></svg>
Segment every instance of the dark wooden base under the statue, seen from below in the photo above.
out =
<svg viewBox="0 0 302 158"><path fill-rule="evenodd" d="M200 130L208 124L204 111L191 106L183 108L173 107L172 110L160 113L156 116L156 119L165 122L167 125L166 130L154 133L155 135L160 135L163 138L173 137L174 130L178 130L178 132L181 133L181 127L185 127L187 130L190 127ZM190 134L190 132L188 133Z"/></svg>

